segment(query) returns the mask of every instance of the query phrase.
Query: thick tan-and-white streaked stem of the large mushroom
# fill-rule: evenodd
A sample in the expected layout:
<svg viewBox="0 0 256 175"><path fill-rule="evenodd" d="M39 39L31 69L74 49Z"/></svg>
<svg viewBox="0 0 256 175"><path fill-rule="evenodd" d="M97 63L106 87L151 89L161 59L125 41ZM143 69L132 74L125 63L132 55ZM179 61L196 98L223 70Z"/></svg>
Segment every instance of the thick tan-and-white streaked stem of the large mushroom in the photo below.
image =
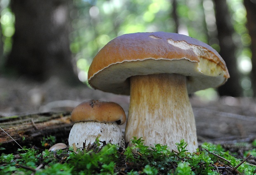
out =
<svg viewBox="0 0 256 175"><path fill-rule="evenodd" d="M175 143L184 139L188 144L186 149L196 151L196 125L184 75L130 77L126 142L133 136L142 137L147 146L160 143L174 150L177 150Z"/></svg>

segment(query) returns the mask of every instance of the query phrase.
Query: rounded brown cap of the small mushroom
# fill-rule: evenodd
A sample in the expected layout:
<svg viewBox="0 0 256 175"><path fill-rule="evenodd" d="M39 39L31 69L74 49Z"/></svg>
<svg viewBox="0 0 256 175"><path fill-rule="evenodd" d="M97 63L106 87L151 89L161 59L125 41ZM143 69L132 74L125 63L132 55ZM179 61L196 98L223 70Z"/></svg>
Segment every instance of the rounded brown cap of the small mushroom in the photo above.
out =
<svg viewBox="0 0 256 175"><path fill-rule="evenodd" d="M126 114L123 108L114 102L88 100L76 106L71 114L71 121L115 122L123 124Z"/></svg>

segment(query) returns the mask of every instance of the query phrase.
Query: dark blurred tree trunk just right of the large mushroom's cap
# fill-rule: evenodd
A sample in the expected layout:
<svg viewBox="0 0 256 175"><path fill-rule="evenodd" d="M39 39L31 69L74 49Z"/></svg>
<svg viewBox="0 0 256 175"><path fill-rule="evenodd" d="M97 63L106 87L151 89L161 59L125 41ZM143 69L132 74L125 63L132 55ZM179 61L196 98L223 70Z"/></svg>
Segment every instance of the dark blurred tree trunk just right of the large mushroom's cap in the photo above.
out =
<svg viewBox="0 0 256 175"><path fill-rule="evenodd" d="M213 2L215 3L215 17L220 44L219 54L226 62L230 73L230 79L218 88L218 92L220 96L242 96L240 75L237 70L237 60L235 58L236 47L232 40L234 29L232 27L228 5L226 0L213 0Z"/></svg>

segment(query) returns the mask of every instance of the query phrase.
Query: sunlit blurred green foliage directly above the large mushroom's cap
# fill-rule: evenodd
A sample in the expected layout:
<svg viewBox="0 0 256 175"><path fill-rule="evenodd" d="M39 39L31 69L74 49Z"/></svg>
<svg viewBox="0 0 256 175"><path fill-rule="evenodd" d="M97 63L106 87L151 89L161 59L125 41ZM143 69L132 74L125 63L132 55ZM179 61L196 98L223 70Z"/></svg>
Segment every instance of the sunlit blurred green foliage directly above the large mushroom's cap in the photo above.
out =
<svg viewBox="0 0 256 175"><path fill-rule="evenodd" d="M173 5L168 0L74 0L71 18L70 49L76 55L80 78L86 73L92 58L107 42L119 35L135 32L175 32L171 15ZM204 9L199 1L178 1L178 17L191 37L207 43ZM83 79L84 77L84 79Z"/></svg>

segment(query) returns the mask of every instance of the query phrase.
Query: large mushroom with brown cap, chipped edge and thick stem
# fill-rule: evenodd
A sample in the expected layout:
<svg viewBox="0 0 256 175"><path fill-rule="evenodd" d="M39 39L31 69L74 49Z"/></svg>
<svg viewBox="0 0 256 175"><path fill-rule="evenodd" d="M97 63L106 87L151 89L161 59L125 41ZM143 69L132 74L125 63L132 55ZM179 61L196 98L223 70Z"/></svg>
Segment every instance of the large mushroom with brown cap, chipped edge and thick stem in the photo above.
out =
<svg viewBox="0 0 256 175"><path fill-rule="evenodd" d="M93 59L90 86L130 95L125 139L143 137L176 149L184 139L187 150L198 147L188 93L224 84L225 62L209 45L177 33L131 33L106 44Z"/></svg>

